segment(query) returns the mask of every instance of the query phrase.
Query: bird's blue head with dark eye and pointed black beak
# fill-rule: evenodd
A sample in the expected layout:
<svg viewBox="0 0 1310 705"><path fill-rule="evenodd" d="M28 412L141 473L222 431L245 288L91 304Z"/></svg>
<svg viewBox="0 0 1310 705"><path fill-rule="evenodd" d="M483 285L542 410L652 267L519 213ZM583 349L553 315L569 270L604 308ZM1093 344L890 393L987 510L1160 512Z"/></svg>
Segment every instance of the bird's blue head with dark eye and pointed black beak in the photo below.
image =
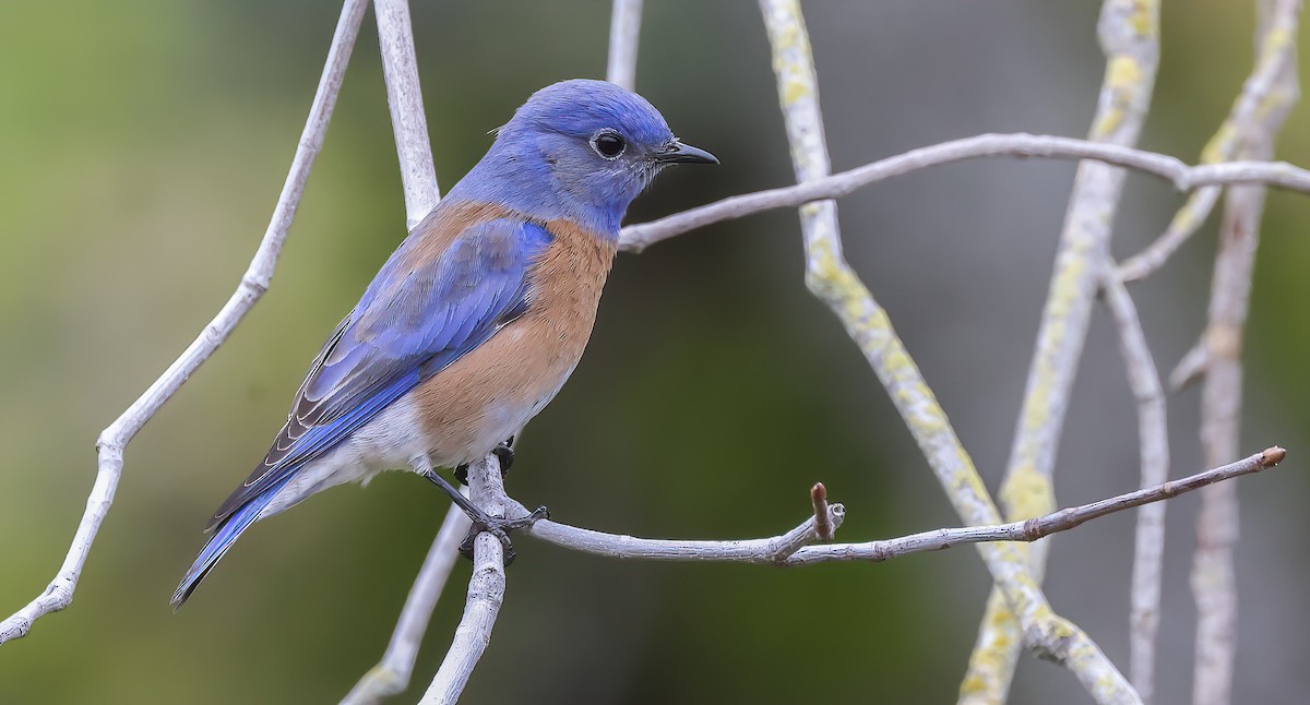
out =
<svg viewBox="0 0 1310 705"><path fill-rule="evenodd" d="M646 98L612 83L574 79L533 93L457 189L465 198L493 197L617 237L633 199L679 162L718 160L679 142Z"/></svg>

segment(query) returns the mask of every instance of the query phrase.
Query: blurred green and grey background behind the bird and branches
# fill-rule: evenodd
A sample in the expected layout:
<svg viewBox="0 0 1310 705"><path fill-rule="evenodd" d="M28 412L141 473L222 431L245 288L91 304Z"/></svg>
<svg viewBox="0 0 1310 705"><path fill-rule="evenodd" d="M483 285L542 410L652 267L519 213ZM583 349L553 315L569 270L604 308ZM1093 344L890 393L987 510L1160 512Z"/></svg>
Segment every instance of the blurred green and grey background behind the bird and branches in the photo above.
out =
<svg viewBox="0 0 1310 705"><path fill-rule="evenodd" d="M414 3L449 187L536 88L605 66L609 4ZM1166 1L1142 145L1193 160L1251 66L1250 3ZM339 7L307 0L0 3L0 611L39 592L72 537L93 442L236 286L291 161ZM838 169L984 131L1082 135L1102 56L1096 4L806 4ZM655 218L791 181L755 3L647 3L638 89L715 169L679 169ZM1302 73L1310 62L1302 59ZM1310 111L1279 143L1310 164ZM844 200L849 257L996 487L1073 165L990 161ZM1132 177L1115 252L1180 198ZM1269 197L1247 335L1243 447L1282 469L1239 481L1237 702L1310 689L1303 616L1310 199ZM330 702L381 655L445 501L413 476L337 489L262 523L173 615L208 512L262 457L322 338L403 236L376 33L365 18L278 276L221 351L127 451L76 600L0 649L0 702ZM1212 223L1134 288L1167 371L1204 321ZM956 523L836 320L806 292L794 212L622 256L586 362L519 446L511 493L561 520L648 536L773 535L806 489L846 540ZM1064 434L1065 505L1136 486L1136 426L1096 313ZM1195 472L1195 391L1171 401L1174 474ZM1170 505L1161 702L1191 683L1196 499ZM1127 662L1132 515L1055 539L1057 611ZM468 702L952 702L986 598L976 553L806 570L618 562L520 540ZM462 607L460 562L411 702ZM1082 702L1024 659L1014 702Z"/></svg>

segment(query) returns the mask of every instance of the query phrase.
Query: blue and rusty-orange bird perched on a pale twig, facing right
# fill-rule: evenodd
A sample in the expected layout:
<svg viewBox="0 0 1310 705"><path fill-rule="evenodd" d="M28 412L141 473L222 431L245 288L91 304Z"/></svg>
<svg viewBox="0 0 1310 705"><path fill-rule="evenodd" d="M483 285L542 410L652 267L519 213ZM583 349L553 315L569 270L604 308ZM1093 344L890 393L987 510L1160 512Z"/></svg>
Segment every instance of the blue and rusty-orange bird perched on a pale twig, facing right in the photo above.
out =
<svg viewBox="0 0 1310 705"><path fill-rule="evenodd" d="M434 468L508 453L506 439L554 398L591 337L624 212L679 162L718 160L614 84L570 80L528 98L328 338L173 605L254 522L386 469L436 482L474 531L503 539L531 523L487 516Z"/></svg>

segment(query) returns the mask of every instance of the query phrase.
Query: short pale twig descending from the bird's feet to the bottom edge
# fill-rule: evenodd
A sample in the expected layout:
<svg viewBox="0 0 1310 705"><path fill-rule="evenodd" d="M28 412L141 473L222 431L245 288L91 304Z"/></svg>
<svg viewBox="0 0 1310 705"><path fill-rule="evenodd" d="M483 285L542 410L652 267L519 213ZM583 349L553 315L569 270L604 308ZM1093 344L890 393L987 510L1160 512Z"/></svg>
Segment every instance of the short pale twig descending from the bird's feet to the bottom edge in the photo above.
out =
<svg viewBox="0 0 1310 705"><path fill-rule="evenodd" d="M506 515L500 461L494 453L469 464L469 495L490 516ZM473 668L491 641L491 628L504 601L504 546L491 533L473 540L473 577L469 578L464 617L455 628L451 649L441 660L421 705L453 705L469 683Z"/></svg>

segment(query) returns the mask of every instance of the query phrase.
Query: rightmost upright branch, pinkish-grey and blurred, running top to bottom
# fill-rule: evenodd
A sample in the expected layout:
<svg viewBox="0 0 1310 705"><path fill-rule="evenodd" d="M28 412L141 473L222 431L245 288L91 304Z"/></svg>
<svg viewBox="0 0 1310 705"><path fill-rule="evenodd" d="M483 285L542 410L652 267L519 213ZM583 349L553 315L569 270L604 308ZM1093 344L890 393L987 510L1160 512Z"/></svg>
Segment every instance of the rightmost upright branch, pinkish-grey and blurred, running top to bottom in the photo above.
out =
<svg viewBox="0 0 1310 705"><path fill-rule="evenodd" d="M1296 56L1298 0L1260 0L1256 43L1259 54ZM1237 155L1269 159L1273 138L1300 94L1296 60L1285 60L1272 79L1273 88L1243 135ZM1260 237L1265 190L1234 186L1227 190L1214 257L1209 322L1203 338L1205 385L1201 389L1201 446L1205 457L1231 457L1242 414L1242 334L1250 308L1255 250ZM1237 575L1233 548L1238 540L1238 501L1231 487L1201 493L1192 560L1196 598L1195 705L1226 705L1233 691L1237 657Z"/></svg>

